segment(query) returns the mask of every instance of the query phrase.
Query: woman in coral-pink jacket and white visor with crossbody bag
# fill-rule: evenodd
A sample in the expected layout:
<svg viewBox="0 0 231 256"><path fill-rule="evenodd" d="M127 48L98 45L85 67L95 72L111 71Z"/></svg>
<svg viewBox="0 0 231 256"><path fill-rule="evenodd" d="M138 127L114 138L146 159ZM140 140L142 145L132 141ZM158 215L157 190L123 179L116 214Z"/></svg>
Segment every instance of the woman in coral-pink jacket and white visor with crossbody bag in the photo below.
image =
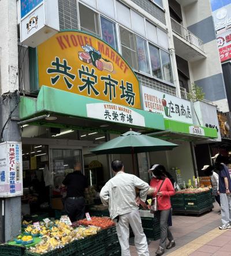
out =
<svg viewBox="0 0 231 256"><path fill-rule="evenodd" d="M165 171L164 166L161 164L154 164L149 171L152 173L150 186L154 188L154 197L157 197L158 211L155 214L157 214L161 228L161 239L156 254L162 255L165 253L167 239L169 240L169 244L167 244L166 249L176 246L169 226L167 226L167 220L171 210L170 196L175 195L175 190L172 182L163 174L163 171Z"/></svg>

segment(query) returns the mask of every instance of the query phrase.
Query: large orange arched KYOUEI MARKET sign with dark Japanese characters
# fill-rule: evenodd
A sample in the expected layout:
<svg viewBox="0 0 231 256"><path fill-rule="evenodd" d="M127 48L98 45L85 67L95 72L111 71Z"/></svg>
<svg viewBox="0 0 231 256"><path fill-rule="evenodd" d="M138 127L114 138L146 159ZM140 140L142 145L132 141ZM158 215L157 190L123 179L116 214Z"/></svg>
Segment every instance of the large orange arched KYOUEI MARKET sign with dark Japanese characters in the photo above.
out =
<svg viewBox="0 0 231 256"><path fill-rule="evenodd" d="M50 86L141 108L139 81L107 43L84 32L64 31L37 47L39 86Z"/></svg>

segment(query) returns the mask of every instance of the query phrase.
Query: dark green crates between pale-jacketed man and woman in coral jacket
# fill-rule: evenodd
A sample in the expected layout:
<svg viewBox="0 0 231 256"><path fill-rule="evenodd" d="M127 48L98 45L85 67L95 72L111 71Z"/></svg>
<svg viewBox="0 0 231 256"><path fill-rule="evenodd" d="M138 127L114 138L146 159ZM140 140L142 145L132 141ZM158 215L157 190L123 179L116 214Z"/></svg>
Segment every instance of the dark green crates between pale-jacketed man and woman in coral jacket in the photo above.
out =
<svg viewBox="0 0 231 256"><path fill-rule="evenodd" d="M158 240L161 236L159 221L149 210L140 210L140 217L144 233L151 240Z"/></svg>

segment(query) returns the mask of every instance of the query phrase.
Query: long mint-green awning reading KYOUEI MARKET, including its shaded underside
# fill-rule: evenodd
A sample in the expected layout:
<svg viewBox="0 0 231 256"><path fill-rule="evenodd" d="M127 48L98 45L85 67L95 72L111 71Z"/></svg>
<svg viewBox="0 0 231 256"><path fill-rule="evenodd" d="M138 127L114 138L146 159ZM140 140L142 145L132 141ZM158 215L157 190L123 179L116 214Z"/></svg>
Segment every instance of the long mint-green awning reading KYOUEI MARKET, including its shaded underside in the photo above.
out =
<svg viewBox="0 0 231 256"><path fill-rule="evenodd" d="M31 118L50 114L56 120ZM142 132L165 130L163 116L135 108L128 108L95 98L42 86L37 98L20 98L20 119L31 125L88 128L107 131L126 131L128 127Z"/></svg>

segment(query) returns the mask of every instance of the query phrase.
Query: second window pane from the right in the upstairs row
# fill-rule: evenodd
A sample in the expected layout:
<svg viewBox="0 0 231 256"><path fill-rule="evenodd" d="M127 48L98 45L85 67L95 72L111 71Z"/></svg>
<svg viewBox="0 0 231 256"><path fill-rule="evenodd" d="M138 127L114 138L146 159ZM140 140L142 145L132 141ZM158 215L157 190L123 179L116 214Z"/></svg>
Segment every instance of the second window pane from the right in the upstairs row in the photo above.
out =
<svg viewBox="0 0 231 256"><path fill-rule="evenodd" d="M151 59L151 68L152 75L156 78L163 79L161 72L161 58L159 56L159 49L152 45L149 45L150 50L150 59Z"/></svg>

